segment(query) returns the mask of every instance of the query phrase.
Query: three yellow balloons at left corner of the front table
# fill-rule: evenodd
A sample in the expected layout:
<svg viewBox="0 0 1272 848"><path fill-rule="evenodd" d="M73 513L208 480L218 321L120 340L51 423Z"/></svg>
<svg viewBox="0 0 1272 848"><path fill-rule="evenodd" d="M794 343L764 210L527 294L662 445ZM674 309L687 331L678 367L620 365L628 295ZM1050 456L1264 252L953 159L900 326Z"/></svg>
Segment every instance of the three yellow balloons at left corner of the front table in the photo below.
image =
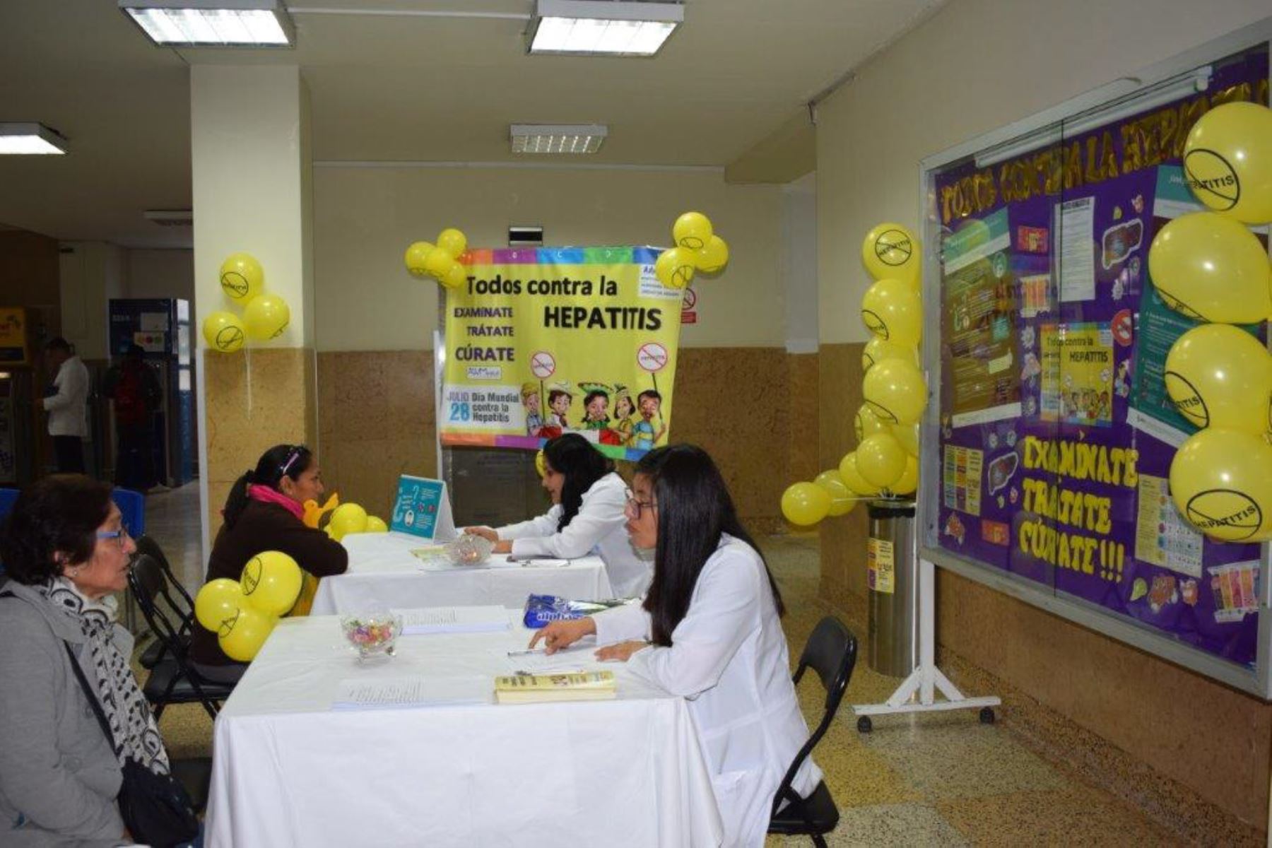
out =
<svg viewBox="0 0 1272 848"><path fill-rule="evenodd" d="M251 662L268 638L279 617L300 596L301 572L281 551L266 551L248 559L238 580L209 581L195 596L195 618L216 633L225 656Z"/></svg>

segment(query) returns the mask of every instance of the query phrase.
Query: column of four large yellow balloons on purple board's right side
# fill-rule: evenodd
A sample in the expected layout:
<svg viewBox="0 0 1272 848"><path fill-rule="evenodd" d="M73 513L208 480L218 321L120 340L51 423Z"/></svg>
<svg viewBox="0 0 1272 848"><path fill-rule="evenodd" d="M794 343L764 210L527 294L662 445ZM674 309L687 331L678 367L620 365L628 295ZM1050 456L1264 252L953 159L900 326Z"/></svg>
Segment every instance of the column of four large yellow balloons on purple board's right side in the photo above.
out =
<svg viewBox="0 0 1272 848"><path fill-rule="evenodd" d="M1184 144L1184 175L1208 211L1158 233L1149 275L1172 309L1205 322L1166 355L1166 393L1201 430L1170 463L1170 496L1194 528L1225 542L1272 539L1272 357L1231 324L1272 315L1267 252L1248 224L1272 221L1272 109L1227 103Z"/></svg>

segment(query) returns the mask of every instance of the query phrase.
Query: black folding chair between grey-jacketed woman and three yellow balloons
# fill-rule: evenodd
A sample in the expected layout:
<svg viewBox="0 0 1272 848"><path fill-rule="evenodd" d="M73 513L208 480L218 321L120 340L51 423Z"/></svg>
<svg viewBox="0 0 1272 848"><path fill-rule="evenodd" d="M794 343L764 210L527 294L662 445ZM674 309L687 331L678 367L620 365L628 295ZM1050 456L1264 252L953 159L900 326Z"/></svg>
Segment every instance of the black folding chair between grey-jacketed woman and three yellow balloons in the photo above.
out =
<svg viewBox="0 0 1272 848"><path fill-rule="evenodd" d="M128 570L128 585L137 598L146 624L163 642L167 655L150 670L141 688L146 701L154 707L155 721L170 703L201 703L207 715L216 718L221 702L234 690L233 684L214 683L198 676L190 661L190 645L182 639L173 618L181 617L173 599L172 585L163 568L153 557L139 554Z"/></svg>

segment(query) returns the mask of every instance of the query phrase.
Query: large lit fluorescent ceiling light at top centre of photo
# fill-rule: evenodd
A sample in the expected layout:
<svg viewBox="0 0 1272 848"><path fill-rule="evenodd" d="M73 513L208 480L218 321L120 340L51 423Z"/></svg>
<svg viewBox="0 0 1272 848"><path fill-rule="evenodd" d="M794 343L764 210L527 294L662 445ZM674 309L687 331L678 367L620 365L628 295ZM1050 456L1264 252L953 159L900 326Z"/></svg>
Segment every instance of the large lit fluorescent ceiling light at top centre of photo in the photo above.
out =
<svg viewBox="0 0 1272 848"><path fill-rule="evenodd" d="M537 0L529 52L653 56L684 22L684 4L658 0Z"/></svg>

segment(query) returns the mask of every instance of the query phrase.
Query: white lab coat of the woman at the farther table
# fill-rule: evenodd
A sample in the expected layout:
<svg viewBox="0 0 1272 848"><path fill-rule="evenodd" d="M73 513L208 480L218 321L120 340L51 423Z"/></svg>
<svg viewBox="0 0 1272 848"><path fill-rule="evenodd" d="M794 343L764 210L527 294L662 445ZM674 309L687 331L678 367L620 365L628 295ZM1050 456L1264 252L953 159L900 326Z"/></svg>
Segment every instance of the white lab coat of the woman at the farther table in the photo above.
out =
<svg viewBox="0 0 1272 848"><path fill-rule="evenodd" d="M616 598L636 598L649 589L654 563L642 559L627 538L627 484L611 472L583 493L579 512L560 533L561 505L544 515L520 524L509 524L495 531L500 539L513 540L513 553L519 557L556 557L577 559L595 552L605 563L609 585ZM590 600L590 599L575 599Z"/></svg>

